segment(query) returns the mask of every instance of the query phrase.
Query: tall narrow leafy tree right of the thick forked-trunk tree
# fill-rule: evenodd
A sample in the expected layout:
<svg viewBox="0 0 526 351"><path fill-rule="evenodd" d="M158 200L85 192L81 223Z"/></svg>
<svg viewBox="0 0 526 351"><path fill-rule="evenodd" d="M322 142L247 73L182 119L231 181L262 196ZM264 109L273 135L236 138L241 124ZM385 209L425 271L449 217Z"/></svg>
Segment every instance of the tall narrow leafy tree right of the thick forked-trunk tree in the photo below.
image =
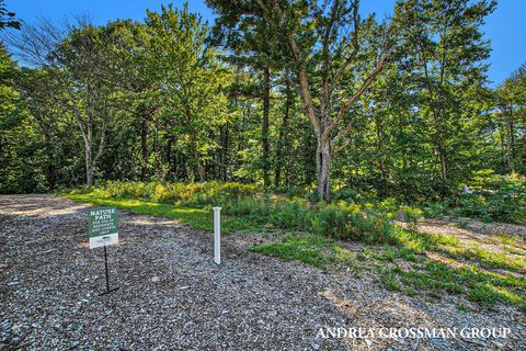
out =
<svg viewBox="0 0 526 351"><path fill-rule="evenodd" d="M489 42L481 25L495 8L495 1L410 0L404 3L409 57L413 77L419 81L431 141L435 146L443 181L450 179L454 139L461 131L467 97L485 82Z"/></svg>

